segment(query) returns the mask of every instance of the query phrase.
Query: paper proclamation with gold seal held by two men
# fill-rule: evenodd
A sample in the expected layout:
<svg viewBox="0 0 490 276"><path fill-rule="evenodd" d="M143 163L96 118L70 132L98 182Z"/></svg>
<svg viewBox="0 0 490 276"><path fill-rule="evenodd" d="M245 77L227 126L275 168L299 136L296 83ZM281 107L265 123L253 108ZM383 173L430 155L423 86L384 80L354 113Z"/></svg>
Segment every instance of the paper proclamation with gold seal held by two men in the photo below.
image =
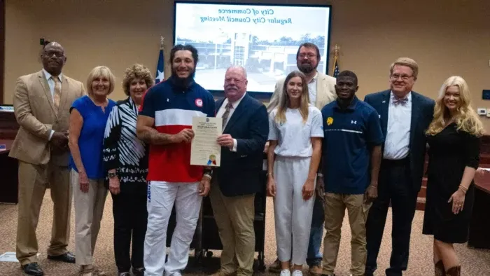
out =
<svg viewBox="0 0 490 276"><path fill-rule="evenodd" d="M216 142L221 135L223 118L194 117L194 139L190 145L190 165L219 167L221 146Z"/></svg>

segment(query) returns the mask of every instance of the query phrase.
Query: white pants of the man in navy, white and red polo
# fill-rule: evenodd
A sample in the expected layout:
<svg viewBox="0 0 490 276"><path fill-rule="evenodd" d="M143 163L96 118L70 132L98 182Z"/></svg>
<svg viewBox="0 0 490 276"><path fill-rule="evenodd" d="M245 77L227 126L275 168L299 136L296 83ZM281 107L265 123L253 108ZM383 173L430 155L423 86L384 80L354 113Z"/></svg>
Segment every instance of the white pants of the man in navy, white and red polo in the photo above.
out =
<svg viewBox="0 0 490 276"><path fill-rule="evenodd" d="M146 276L181 275L189 259L190 242L199 219L202 196L198 183L150 181L148 184L148 226L145 236ZM176 227L165 263L167 227L172 207L176 207Z"/></svg>

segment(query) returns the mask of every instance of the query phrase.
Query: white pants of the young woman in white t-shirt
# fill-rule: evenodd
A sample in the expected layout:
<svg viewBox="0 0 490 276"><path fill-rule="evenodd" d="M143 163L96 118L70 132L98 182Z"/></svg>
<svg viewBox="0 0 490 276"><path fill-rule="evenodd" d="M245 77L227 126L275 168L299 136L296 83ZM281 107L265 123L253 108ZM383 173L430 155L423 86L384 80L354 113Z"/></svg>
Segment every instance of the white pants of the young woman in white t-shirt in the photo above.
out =
<svg viewBox="0 0 490 276"><path fill-rule="evenodd" d="M295 265L306 263L307 258L315 199L303 200L302 188L308 178L310 160L276 156L274 162L277 257L279 261L291 261Z"/></svg>

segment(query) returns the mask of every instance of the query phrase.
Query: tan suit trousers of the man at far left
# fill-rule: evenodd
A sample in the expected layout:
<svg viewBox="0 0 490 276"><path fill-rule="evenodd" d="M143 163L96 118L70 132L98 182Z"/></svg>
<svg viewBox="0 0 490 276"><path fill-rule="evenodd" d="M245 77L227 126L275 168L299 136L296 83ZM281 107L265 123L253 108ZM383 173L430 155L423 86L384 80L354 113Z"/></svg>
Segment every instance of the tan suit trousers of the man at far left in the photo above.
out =
<svg viewBox="0 0 490 276"><path fill-rule="evenodd" d="M21 265L37 262L36 227L46 188L50 186L53 218L49 256L66 253L70 238L71 186L68 167L34 165L19 160L17 258Z"/></svg>

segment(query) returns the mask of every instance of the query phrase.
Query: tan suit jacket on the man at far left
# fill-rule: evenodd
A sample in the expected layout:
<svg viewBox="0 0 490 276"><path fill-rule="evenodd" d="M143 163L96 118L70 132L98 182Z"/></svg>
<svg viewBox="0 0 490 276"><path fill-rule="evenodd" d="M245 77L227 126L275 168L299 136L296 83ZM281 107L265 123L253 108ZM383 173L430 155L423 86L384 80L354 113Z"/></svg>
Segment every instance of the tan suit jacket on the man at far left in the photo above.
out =
<svg viewBox="0 0 490 276"><path fill-rule="evenodd" d="M71 104L85 95L85 88L80 81L64 74L62 77L59 110L55 110L43 70L18 78L13 108L20 128L8 156L35 165L47 164L50 160L56 165L68 165L69 151L51 154L48 139L51 130L68 130Z"/></svg>

